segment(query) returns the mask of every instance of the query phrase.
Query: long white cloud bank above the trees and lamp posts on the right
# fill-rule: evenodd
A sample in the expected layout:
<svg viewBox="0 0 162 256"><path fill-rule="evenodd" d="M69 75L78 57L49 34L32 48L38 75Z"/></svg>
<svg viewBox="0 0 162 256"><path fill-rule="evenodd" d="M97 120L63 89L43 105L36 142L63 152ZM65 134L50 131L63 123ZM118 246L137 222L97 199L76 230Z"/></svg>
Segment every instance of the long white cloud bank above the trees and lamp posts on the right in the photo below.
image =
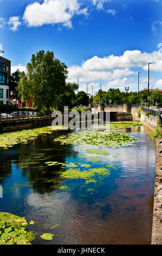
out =
<svg viewBox="0 0 162 256"><path fill-rule="evenodd" d="M98 81L98 80L116 80L136 74L132 71L133 67L140 67L148 70L148 63L151 71L162 72L162 54L154 51L152 53L142 53L138 50L125 51L121 56L108 56L100 58L94 56L87 59L79 65L69 67L69 81L76 81L77 78L81 82Z"/></svg>

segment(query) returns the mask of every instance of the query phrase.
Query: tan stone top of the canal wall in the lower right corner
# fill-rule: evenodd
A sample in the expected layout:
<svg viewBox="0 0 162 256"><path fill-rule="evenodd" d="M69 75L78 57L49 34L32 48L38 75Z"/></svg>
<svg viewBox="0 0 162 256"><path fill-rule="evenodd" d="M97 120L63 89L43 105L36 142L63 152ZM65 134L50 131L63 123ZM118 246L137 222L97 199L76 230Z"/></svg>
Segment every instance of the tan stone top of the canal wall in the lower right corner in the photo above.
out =
<svg viewBox="0 0 162 256"><path fill-rule="evenodd" d="M156 143L152 245L162 245L162 138Z"/></svg>

